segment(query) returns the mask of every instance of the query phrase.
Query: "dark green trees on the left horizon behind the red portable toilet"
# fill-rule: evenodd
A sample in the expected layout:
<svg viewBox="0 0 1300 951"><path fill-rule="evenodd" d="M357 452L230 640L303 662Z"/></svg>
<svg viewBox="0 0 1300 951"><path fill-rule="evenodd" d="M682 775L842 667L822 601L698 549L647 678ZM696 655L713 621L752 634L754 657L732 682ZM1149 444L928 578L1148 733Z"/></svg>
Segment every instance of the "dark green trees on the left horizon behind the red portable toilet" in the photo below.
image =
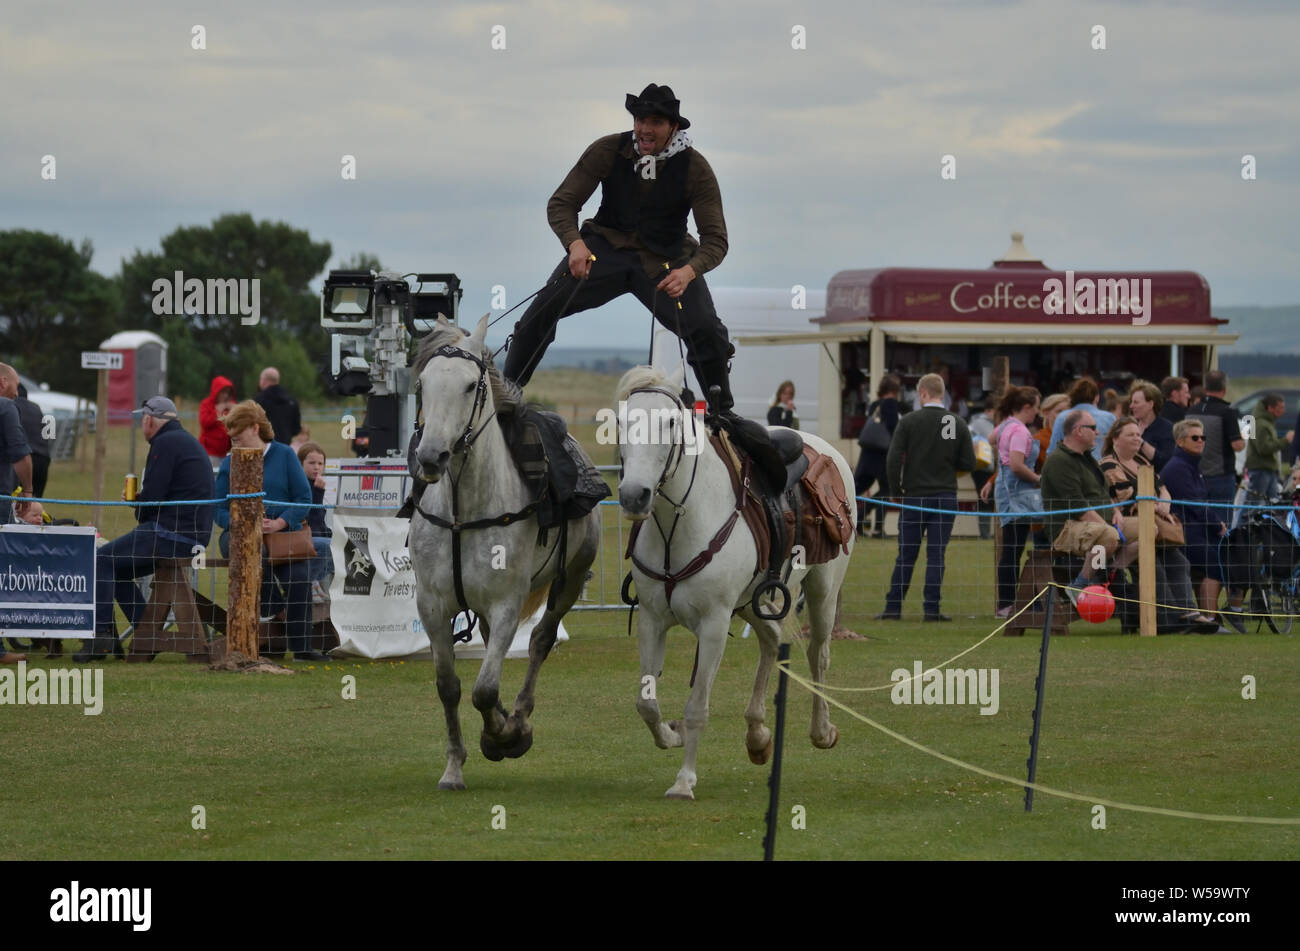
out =
<svg viewBox="0 0 1300 951"><path fill-rule="evenodd" d="M234 381L240 398L257 391L263 366L312 403L325 398L321 368L329 335L320 326L320 296L311 282L333 255L329 242L285 222L225 214L207 226L182 226L160 251L136 249L121 270L91 270L94 246L56 234L0 231L0 360L55 390L95 398L95 374L81 352L121 330L151 330L168 343L168 391L199 399L214 375ZM358 253L341 268L376 268ZM182 272L199 279L259 279L261 321L239 316L153 313L153 282Z"/></svg>

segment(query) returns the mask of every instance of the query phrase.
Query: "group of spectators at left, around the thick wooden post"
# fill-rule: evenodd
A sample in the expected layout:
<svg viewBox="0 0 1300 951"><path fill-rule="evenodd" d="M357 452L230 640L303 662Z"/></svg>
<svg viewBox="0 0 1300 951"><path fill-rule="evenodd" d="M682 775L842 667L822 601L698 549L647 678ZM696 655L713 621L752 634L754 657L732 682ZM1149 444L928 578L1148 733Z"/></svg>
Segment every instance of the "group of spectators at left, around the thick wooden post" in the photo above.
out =
<svg viewBox="0 0 1300 951"><path fill-rule="evenodd" d="M40 495L47 468L34 465L38 452L25 430L17 390L17 373L0 364L0 507L4 507L0 520L40 525L47 516L39 501L12 501L14 490ZM272 565L264 550L261 620L285 621L296 660L324 660L325 655L311 644L311 615L313 603L329 599L330 529L325 511L307 505L318 505L324 498L325 451L309 442L298 403L280 385L276 368L263 370L257 396L242 403L237 401L229 378L213 378L208 396L199 404L198 437L183 427L176 403L165 396L144 400L135 417L148 443L148 456L134 498L127 499L124 488L122 501L139 503L133 507L136 525L103 542L96 551L95 637L86 640L74 660L87 663L124 655L121 642L139 624L148 603L139 579L152 576L157 561L191 559L208 547L213 526L222 529L218 547L222 557L229 556L230 505L213 500L229 492L231 447L263 451L268 499L263 531L298 531L308 525L312 534L312 557ZM185 504L190 501L195 504ZM122 634L117 630L114 603L126 616ZM51 653L60 650L52 642ZM25 656L0 651L0 663L20 660Z"/></svg>

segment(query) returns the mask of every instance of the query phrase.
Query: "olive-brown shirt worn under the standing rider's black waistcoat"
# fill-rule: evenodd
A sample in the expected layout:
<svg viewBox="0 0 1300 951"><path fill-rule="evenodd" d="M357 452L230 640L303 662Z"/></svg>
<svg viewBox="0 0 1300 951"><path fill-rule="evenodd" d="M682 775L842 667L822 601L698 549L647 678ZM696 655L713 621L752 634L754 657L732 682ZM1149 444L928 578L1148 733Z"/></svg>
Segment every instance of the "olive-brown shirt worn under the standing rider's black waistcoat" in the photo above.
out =
<svg viewBox="0 0 1300 951"><path fill-rule="evenodd" d="M564 177L560 187L546 203L546 218L551 223L551 230L560 239L560 244L568 251L569 244L576 242L578 234L577 216L582 205L592 197L610 171L614 169L614 160L619 152L619 138L623 133L603 135L582 153L577 165ZM686 200L690 201L690 210L696 216L696 227L699 229L699 240L696 242L686 234L686 248L690 252L689 264L696 272L696 277L703 277L712 270L727 256L727 220L723 217L723 195L718 188L718 179L714 170L694 148L690 148L690 168L686 171ZM636 157L636 149L629 143L623 151L625 157ZM684 153L682 153L684 155ZM672 160L670 160L672 161ZM641 190L650 191L654 179L641 179ZM612 227L598 225L588 218L582 227L590 227L610 244L619 249L638 251L646 274L662 275L664 273L664 260L659 255L649 251L637 238L628 231L616 231ZM676 262L673 262L676 264Z"/></svg>

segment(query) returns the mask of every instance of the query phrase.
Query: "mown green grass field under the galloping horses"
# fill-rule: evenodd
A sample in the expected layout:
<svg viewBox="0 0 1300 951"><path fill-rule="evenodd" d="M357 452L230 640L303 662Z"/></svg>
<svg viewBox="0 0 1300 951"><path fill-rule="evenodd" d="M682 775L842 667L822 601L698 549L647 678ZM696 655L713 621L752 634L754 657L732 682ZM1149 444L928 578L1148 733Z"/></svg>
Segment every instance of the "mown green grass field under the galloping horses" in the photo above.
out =
<svg viewBox="0 0 1300 951"><path fill-rule="evenodd" d="M110 466L125 460L120 442ZM77 494L79 478L75 466L56 468L48 494ZM612 578L621 576L615 522L607 518L602 550ZM952 625L870 621L894 551L890 540L868 540L854 555L844 620L870 639L832 646L832 685L889 685L893 669L939 664L993 629L992 546L961 538L949 547L945 582ZM923 565L916 570L909 618L920 613ZM536 744L521 760L493 764L477 752L468 694L478 664L458 664L471 748L469 789L458 794L436 789L446 735L430 663L330 661L295 665L303 672L292 677L211 673L176 656L96 665L100 716L0 707L0 811L10 817L0 824L0 857L758 859L767 769L750 765L742 747L754 639L733 624L701 741L697 802L677 803L663 792L681 751L655 750L633 707L640 685L627 615L573 612L566 626L572 640L542 670ZM681 716L693 647L690 634L670 635L659 681L666 716ZM889 690L838 696L937 751L1022 777L1037 656L1037 637L994 637L956 661L998 670L994 716L974 705L896 705ZM798 646L793 669L807 670ZM506 663L504 698L523 670L524 661ZM344 674L356 677L356 699L342 698ZM1256 678L1257 699L1242 698L1245 676ZM838 746L814 750L809 709L809 695L792 685L777 857L1300 857L1295 825L1113 808L1098 830L1088 803L1041 794L1026 815L1020 787L927 756L844 712L832 711ZM1076 622L1050 647L1039 782L1122 803L1300 818L1296 709L1294 637L1140 639L1122 637L1115 621ZM191 828L195 805L205 829ZM493 828L498 805L504 829ZM790 828L794 805L806 811L803 830Z"/></svg>

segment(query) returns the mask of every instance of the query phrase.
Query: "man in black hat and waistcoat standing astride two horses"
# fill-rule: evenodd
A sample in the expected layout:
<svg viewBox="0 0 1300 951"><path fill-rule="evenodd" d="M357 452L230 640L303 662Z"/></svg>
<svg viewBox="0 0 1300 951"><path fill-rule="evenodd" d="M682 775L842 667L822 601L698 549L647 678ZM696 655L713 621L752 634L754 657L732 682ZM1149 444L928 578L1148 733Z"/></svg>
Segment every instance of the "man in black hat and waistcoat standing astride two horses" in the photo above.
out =
<svg viewBox="0 0 1300 951"><path fill-rule="evenodd" d="M718 405L710 408L732 416L727 327L703 281L727 255L718 179L692 148L690 121L670 87L650 83L640 96L629 92L625 105L632 131L593 142L546 205L568 257L515 325L504 375L524 386L555 339L560 317L630 291L682 338L705 395L719 387ZM577 216L598 184L601 208L578 229ZM690 212L698 243L686 233Z"/></svg>

